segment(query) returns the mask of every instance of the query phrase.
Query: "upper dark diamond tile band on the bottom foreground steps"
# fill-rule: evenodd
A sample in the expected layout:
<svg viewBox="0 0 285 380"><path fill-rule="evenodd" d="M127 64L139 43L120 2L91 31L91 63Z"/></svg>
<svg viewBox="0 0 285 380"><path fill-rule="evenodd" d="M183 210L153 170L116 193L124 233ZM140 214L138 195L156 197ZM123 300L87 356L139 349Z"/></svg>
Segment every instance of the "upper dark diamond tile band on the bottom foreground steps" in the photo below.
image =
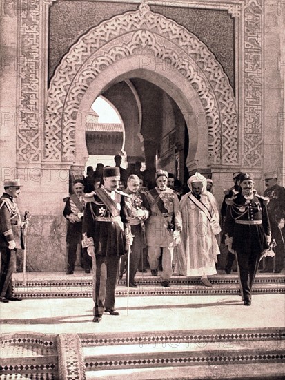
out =
<svg viewBox="0 0 285 380"><path fill-rule="evenodd" d="M237 332L124 332L118 336L114 333L111 336L95 336L95 334L79 334L83 347L94 345L130 345L130 344L150 344L150 343L210 343L210 342L231 342L231 341L282 341L285 339L285 330L268 331L237 331Z"/></svg>

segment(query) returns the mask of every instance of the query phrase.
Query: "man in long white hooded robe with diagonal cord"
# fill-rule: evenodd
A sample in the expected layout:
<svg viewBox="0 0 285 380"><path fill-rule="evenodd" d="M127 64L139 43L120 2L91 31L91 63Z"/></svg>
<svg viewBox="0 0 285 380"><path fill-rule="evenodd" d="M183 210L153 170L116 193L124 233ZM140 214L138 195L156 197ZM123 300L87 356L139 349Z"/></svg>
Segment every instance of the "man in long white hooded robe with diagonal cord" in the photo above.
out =
<svg viewBox="0 0 285 380"><path fill-rule="evenodd" d="M206 190L206 178L195 173L188 180L189 193L180 201L183 229L177 263L177 273L201 277L201 282L212 286L208 276L217 273L215 263L219 246L219 210L213 194Z"/></svg>

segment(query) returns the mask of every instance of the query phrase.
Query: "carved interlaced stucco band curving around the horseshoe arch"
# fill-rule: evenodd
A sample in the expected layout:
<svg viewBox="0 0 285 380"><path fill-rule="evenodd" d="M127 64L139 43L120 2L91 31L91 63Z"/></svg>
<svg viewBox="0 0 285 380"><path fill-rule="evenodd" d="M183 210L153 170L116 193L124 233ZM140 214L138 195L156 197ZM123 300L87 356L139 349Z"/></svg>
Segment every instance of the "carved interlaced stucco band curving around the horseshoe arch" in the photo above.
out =
<svg viewBox="0 0 285 380"><path fill-rule="evenodd" d="M199 94L207 115L210 163L237 164L235 99L222 67L195 35L150 12L146 4L93 28L63 58L50 85L44 159L72 161L77 109L88 85L112 62L141 52L164 59Z"/></svg>

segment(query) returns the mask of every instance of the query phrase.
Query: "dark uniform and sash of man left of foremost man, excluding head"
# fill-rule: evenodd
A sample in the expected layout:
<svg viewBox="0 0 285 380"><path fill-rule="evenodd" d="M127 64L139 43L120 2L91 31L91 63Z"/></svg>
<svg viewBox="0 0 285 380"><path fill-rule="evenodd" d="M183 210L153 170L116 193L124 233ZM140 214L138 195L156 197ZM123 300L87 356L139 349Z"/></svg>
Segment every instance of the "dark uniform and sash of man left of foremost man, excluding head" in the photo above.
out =
<svg viewBox="0 0 285 380"><path fill-rule="evenodd" d="M72 194L72 196L68 198L64 198L66 200L66 205L63 210L63 216L68 221L67 223L67 231L66 231L66 248L68 254L68 274L72 274L75 270L75 262L76 262L76 253L77 253L77 245L80 243L81 247L81 234L82 234L82 220L80 222L70 222L68 217L70 214L75 214L83 216L83 202L79 199L78 196ZM88 256L86 249L81 251L81 256L83 259L83 268L86 272L90 273L90 256Z"/></svg>

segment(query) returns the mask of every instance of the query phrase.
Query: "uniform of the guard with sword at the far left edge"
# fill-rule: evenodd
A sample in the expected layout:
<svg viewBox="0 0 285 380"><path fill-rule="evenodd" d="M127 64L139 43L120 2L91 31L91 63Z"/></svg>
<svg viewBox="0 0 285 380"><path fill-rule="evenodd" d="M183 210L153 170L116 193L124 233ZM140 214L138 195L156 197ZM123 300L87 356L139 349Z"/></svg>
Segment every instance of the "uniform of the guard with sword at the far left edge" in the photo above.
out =
<svg viewBox="0 0 285 380"><path fill-rule="evenodd" d="M16 247L10 250L8 245L12 240L16 243ZM21 216L13 197L3 193L0 198L1 298L12 297L12 274L16 269L17 249L24 249Z"/></svg>

